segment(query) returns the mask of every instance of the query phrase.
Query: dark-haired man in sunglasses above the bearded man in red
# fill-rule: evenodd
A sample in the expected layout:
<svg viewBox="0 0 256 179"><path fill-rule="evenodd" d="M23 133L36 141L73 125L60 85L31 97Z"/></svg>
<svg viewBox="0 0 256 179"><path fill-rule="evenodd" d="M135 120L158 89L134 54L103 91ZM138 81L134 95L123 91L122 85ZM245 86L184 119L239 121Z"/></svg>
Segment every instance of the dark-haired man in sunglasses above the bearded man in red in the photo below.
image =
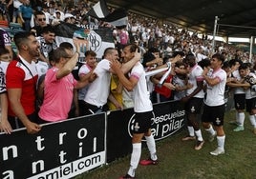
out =
<svg viewBox="0 0 256 179"><path fill-rule="evenodd" d="M34 13L34 23L35 23L35 26L32 27L31 31L35 34L35 36L41 36L43 32L43 28L47 26L46 16L44 12L36 11Z"/></svg>

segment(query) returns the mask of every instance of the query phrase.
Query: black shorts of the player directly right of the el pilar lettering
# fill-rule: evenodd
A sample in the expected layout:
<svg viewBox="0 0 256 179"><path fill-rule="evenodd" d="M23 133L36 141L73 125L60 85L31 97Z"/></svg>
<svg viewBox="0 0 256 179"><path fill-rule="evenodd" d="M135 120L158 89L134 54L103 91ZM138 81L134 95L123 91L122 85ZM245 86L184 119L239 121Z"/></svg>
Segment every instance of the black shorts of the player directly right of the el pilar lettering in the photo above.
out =
<svg viewBox="0 0 256 179"><path fill-rule="evenodd" d="M188 113L201 113L203 107L203 98L192 97L185 104L185 111Z"/></svg>

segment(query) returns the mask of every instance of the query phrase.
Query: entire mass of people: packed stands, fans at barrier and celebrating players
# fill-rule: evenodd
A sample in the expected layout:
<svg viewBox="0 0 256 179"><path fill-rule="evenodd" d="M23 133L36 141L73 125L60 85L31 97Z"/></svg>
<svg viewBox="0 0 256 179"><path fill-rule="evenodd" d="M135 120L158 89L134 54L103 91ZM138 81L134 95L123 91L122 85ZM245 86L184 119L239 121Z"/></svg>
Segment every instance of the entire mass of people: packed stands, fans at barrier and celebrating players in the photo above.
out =
<svg viewBox="0 0 256 179"><path fill-rule="evenodd" d="M154 103L184 104L188 135L182 141L196 140L197 150L204 144L198 122L202 114L209 141L217 138L218 148L210 154L224 154L224 111L228 89L233 88L239 89L234 95L234 131L245 129L246 104L256 134L255 56L249 59L247 51L224 42L212 47L207 34L134 12L128 12L127 26L114 27L87 15L94 6L88 0L0 3L0 132L25 127L37 133L41 124L133 108L133 152L121 178L134 178L139 164L158 164L151 134ZM7 32L10 23L20 27L13 38ZM84 44L81 48L75 38L73 44L57 44L54 27L62 23L109 28L115 47L106 47L102 59L96 60L96 51ZM11 49L11 41L17 51ZM142 137L150 158L139 162Z"/></svg>

